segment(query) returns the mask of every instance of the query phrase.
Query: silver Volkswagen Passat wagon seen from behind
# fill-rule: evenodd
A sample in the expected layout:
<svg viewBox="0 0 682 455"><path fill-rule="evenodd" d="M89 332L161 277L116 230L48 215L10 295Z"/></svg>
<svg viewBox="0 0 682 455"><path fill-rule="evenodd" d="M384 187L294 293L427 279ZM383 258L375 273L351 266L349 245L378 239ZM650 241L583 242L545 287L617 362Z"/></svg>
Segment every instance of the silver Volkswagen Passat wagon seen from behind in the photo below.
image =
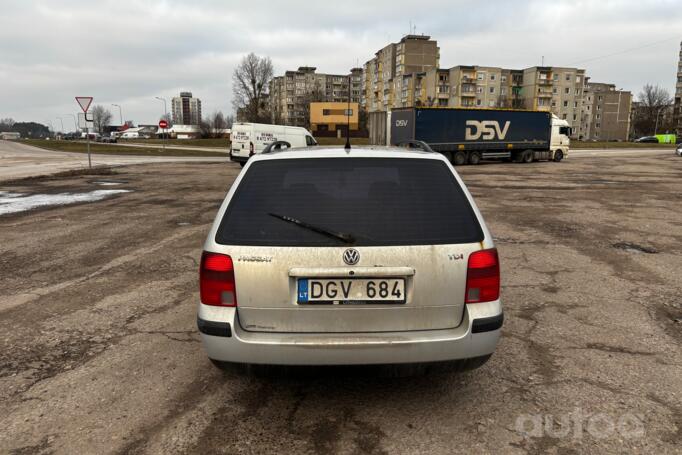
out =
<svg viewBox="0 0 682 455"><path fill-rule="evenodd" d="M500 269L440 154L290 149L249 160L200 266L198 327L215 363L400 364L495 350Z"/></svg>

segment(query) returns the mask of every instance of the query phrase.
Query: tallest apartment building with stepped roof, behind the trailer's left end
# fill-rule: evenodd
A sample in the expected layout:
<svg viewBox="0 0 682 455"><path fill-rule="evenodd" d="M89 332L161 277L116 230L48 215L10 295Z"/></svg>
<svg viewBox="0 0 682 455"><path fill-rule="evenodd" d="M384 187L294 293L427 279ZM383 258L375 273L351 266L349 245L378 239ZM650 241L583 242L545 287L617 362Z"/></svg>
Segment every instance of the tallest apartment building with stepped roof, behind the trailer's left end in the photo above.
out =
<svg viewBox="0 0 682 455"><path fill-rule="evenodd" d="M421 91L418 74L438 68L439 59L438 43L426 35L406 35L380 49L363 66L362 107L376 112L413 105L407 103Z"/></svg>

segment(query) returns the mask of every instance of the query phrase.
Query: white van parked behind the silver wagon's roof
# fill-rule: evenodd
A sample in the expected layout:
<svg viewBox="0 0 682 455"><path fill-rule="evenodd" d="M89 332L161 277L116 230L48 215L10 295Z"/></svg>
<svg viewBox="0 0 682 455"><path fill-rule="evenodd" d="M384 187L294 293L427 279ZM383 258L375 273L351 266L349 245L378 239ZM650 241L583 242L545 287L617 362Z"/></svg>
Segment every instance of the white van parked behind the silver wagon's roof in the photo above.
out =
<svg viewBox="0 0 682 455"><path fill-rule="evenodd" d="M249 157L261 153L274 141L286 141L292 147L317 145L313 135L305 128L265 123L235 123L232 125L230 138L232 140L230 158L242 166Z"/></svg>

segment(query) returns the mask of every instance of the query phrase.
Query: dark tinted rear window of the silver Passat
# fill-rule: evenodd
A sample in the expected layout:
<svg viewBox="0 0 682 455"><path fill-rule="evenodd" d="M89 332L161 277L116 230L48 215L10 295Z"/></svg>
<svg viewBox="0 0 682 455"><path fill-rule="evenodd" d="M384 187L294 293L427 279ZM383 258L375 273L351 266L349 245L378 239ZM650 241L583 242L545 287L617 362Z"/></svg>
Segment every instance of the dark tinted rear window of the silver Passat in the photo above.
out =
<svg viewBox="0 0 682 455"><path fill-rule="evenodd" d="M462 188L446 164L436 160L305 158L253 163L225 211L216 242L344 245L273 214L350 235L354 245L483 240Z"/></svg>

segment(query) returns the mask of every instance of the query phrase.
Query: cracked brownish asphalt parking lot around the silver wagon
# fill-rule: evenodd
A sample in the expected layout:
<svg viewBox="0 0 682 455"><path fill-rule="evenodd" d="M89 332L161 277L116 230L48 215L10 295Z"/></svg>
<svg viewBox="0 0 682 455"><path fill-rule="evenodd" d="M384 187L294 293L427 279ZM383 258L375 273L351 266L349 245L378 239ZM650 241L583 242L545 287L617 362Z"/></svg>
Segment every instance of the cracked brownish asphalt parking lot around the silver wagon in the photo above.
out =
<svg viewBox="0 0 682 455"><path fill-rule="evenodd" d="M506 320L482 368L220 372L197 260L239 166L0 182L120 192L0 215L0 452L679 453L682 160L458 169L496 238Z"/></svg>

